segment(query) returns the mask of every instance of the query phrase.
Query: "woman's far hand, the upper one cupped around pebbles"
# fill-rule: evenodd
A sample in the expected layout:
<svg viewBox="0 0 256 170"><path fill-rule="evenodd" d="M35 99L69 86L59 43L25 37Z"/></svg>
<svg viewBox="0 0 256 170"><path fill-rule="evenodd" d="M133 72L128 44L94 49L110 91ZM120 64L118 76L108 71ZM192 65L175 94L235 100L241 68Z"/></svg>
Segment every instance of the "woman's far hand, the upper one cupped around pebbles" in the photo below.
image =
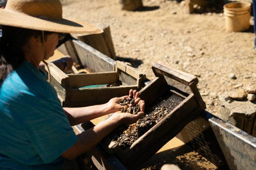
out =
<svg viewBox="0 0 256 170"><path fill-rule="evenodd" d="M129 107L133 106L134 104L137 104L139 101L140 101L140 98L139 98L139 92L137 92L136 90L130 90L129 91L129 96L123 96L123 97L120 97L120 98L112 98L109 100L108 103L106 103L106 106L110 109L110 112L117 112L117 111L120 111L122 106L119 104L119 102L121 102L121 100L123 98L133 98L135 100L135 102L133 104L129 104ZM143 110L144 111L144 110Z"/></svg>

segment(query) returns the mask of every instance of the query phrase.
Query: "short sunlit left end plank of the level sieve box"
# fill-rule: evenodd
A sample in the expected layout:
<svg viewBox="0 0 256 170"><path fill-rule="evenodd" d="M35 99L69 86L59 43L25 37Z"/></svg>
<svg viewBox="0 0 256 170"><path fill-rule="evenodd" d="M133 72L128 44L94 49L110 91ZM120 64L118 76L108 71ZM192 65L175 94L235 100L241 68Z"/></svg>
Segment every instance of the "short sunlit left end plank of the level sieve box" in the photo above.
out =
<svg viewBox="0 0 256 170"><path fill-rule="evenodd" d="M68 76L53 63L48 63L48 66L50 69L50 75L52 75L57 80L57 82L60 83L62 86L65 86L66 78L68 78ZM45 69L47 70L46 66Z"/></svg>

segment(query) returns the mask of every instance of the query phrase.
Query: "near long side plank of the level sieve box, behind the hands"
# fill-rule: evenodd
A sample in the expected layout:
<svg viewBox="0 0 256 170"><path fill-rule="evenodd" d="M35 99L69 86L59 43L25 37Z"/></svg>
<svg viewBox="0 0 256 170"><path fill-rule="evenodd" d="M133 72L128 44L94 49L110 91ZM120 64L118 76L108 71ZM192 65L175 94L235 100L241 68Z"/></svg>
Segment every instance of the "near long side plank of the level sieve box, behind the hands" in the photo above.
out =
<svg viewBox="0 0 256 170"><path fill-rule="evenodd" d="M121 97L129 94L130 89L138 90L137 86L119 86L103 88L87 88L86 90L72 89L69 96L70 102L110 100L114 97Z"/></svg>

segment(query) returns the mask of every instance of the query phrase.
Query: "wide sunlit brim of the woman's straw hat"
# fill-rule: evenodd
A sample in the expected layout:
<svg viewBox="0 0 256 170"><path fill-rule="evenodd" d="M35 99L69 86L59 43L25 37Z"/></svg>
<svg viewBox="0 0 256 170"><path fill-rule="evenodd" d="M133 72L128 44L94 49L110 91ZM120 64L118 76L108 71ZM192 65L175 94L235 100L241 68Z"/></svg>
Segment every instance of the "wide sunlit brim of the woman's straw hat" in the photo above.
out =
<svg viewBox="0 0 256 170"><path fill-rule="evenodd" d="M82 33L85 35L102 33L103 30L89 23L70 19L48 19L33 17L25 13L0 9L0 25L62 33Z"/></svg>

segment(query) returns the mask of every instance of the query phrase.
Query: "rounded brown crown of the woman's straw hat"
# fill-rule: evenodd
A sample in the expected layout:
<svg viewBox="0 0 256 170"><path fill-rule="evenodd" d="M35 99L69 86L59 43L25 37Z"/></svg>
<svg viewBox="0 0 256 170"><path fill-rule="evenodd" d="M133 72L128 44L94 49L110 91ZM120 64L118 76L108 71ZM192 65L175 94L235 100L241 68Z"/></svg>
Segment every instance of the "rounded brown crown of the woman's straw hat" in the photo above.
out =
<svg viewBox="0 0 256 170"><path fill-rule="evenodd" d="M62 19L60 0L8 0L5 9L42 19Z"/></svg>

